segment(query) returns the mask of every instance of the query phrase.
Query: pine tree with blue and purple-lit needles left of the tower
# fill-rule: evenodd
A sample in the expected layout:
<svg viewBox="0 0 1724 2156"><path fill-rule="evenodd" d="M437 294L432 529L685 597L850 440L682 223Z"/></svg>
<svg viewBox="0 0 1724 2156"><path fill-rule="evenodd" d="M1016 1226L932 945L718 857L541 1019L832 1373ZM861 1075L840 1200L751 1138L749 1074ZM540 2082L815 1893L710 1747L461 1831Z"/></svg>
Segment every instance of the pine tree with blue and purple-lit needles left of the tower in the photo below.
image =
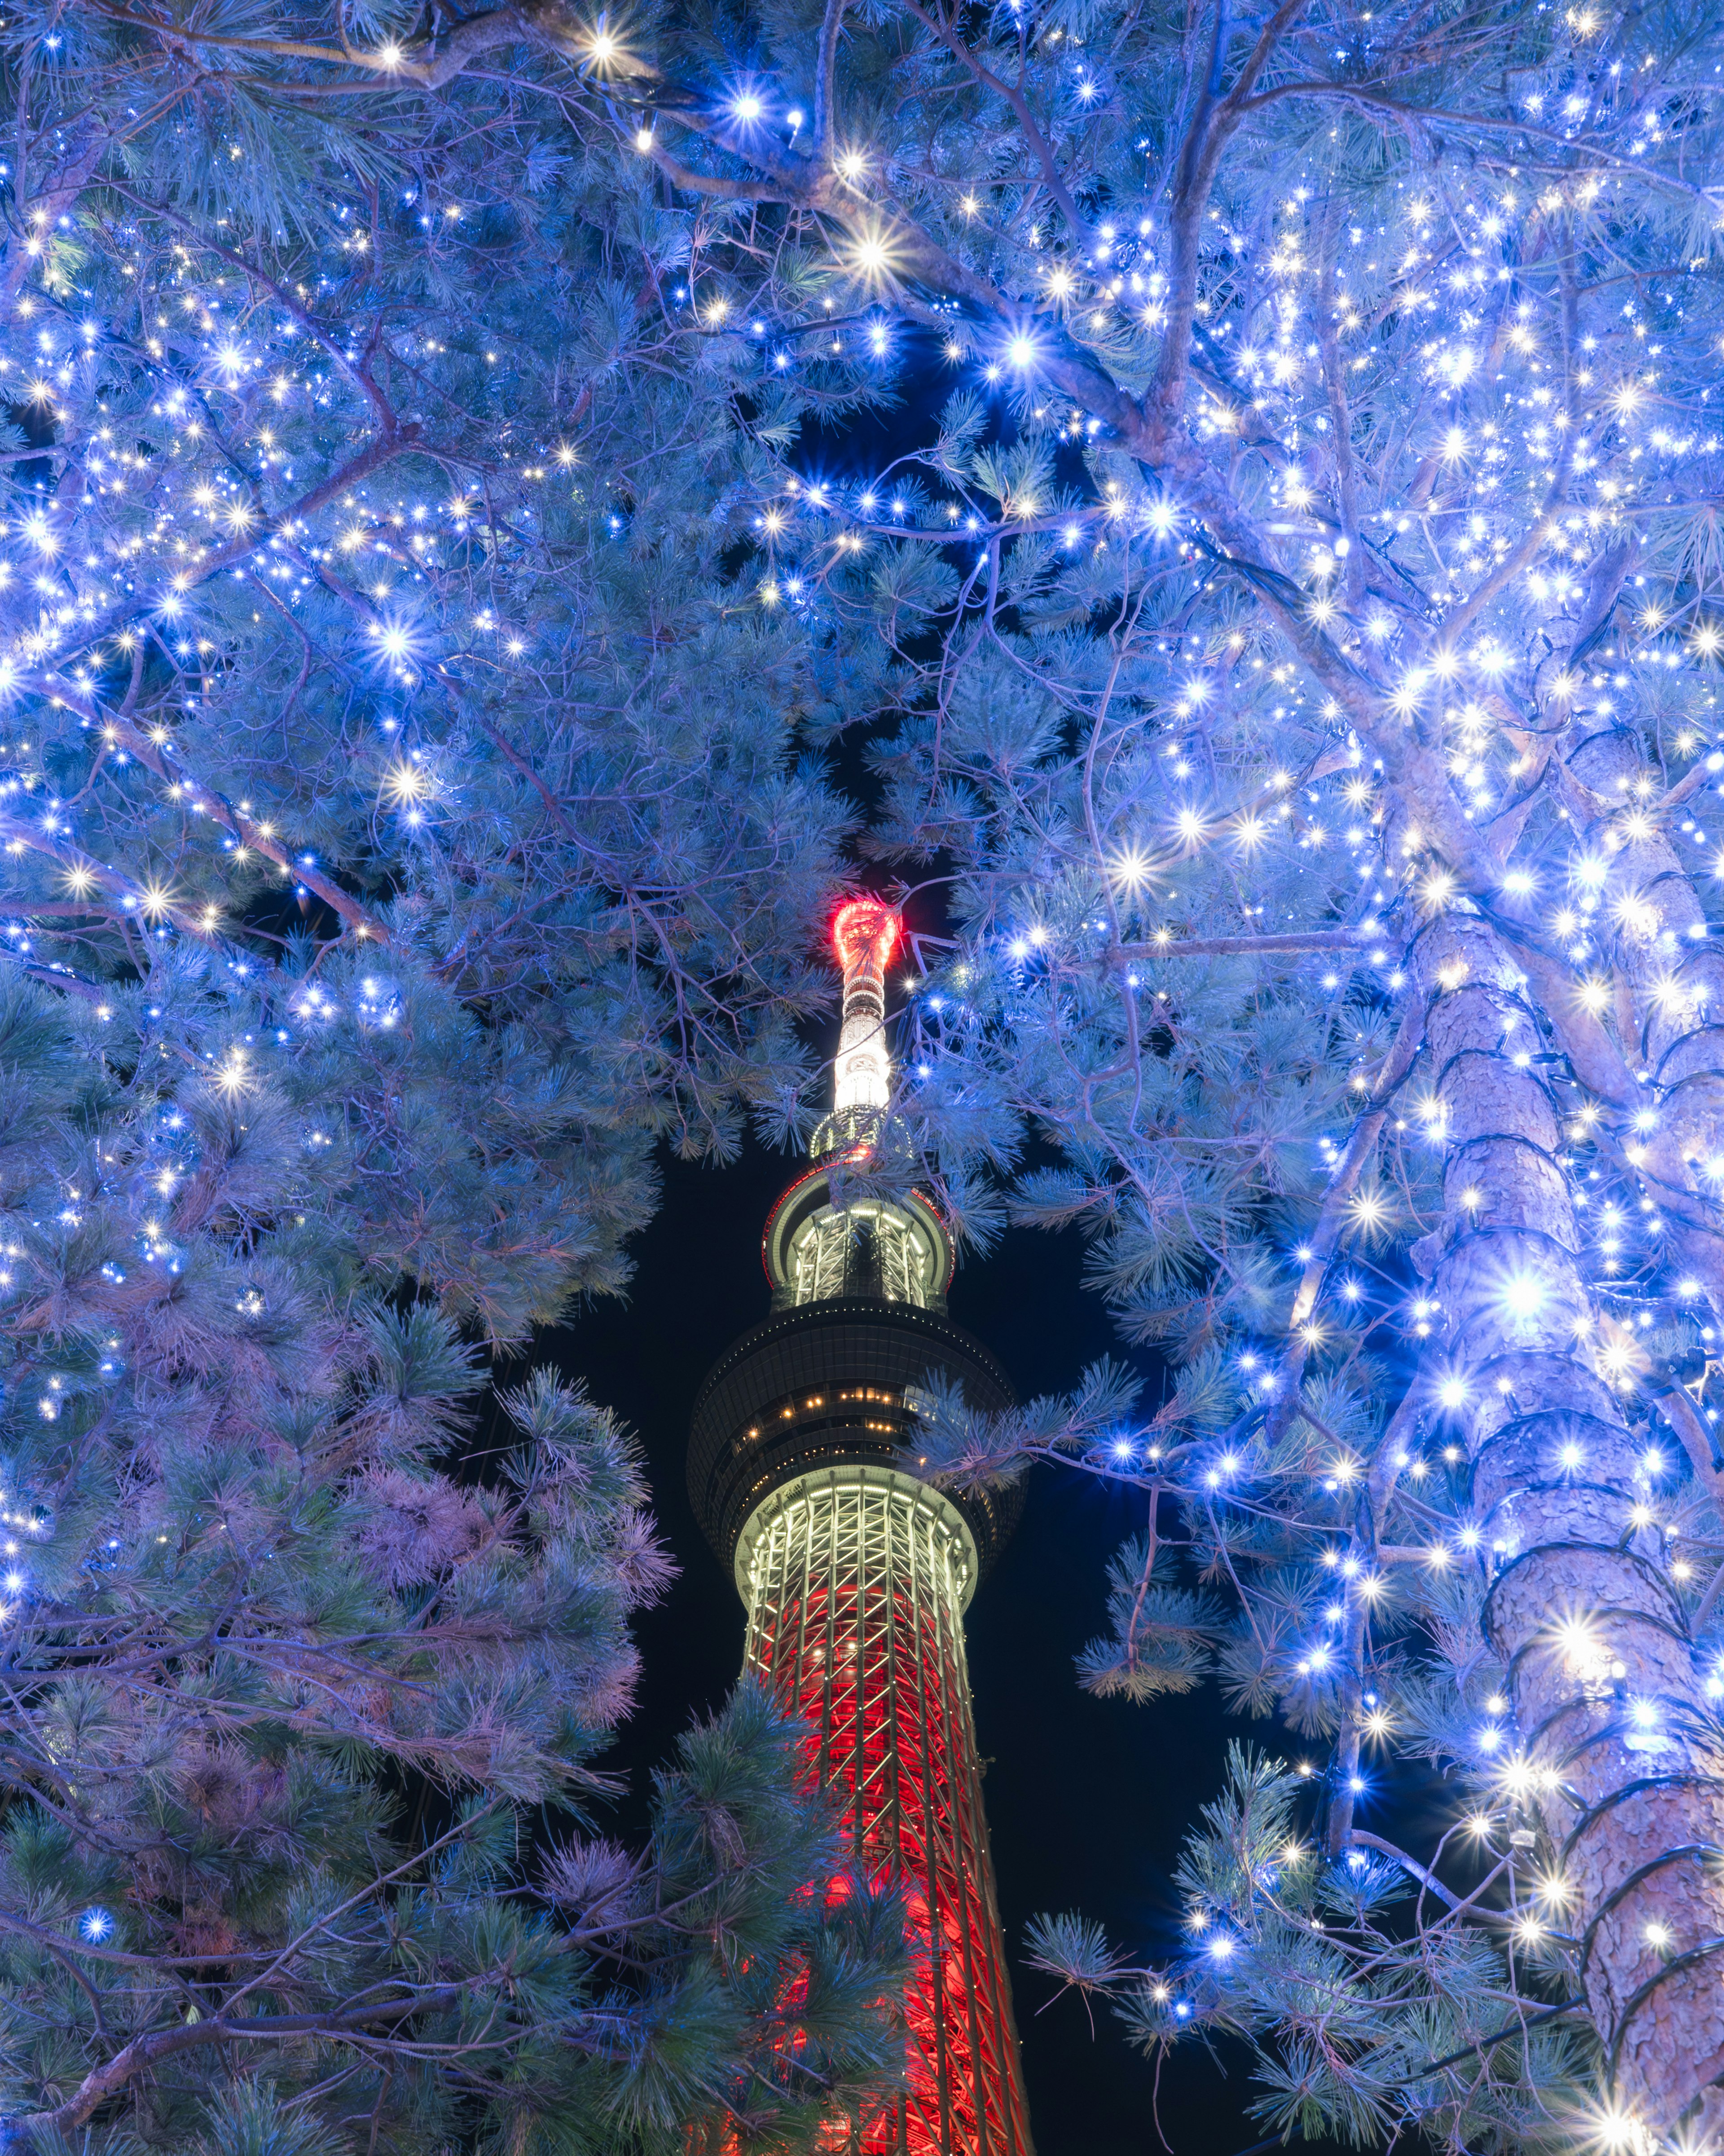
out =
<svg viewBox="0 0 1724 2156"><path fill-rule="evenodd" d="M899 2072L761 1697L603 1835L668 1559L522 1354L655 1143L795 1115L847 811L683 222L519 22L0 26L6 2147L791 2150Z"/></svg>

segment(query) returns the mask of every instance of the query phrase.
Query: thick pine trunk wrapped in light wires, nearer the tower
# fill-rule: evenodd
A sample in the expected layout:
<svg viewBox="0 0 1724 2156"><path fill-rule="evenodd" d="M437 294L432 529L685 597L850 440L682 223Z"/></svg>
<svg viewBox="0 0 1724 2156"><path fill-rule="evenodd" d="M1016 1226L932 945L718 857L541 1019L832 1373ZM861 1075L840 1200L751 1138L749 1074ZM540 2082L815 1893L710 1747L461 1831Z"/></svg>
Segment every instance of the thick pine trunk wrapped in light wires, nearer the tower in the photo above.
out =
<svg viewBox="0 0 1724 2156"><path fill-rule="evenodd" d="M1532 1770L1524 1802L1573 1895L1552 1921L1582 1943L1623 2109L1666 2132L1715 2126L1724 1781L1657 1529L1631 1524L1638 1447L1593 1369L1556 1108L1511 1061L1537 1050L1534 1020L1476 916L1442 916L1414 968L1448 1117L1433 1287L1470 1388L1485 1632Z"/></svg>

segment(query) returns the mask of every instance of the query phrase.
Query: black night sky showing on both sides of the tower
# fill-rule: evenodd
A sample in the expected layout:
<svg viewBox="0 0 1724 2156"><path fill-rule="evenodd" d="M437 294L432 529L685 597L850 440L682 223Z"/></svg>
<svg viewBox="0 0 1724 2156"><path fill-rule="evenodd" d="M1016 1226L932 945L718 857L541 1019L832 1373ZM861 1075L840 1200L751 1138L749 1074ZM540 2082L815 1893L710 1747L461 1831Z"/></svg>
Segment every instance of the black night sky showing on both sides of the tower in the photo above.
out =
<svg viewBox="0 0 1724 2156"><path fill-rule="evenodd" d="M640 1794L692 1714L741 1667L741 1604L683 1490L687 1416L700 1378L767 1311L761 1225L791 1160L752 1149L726 1171L670 1162L664 1205L638 1238L627 1304L595 1304L541 1352L640 1434L664 1531L683 1565L640 1623L640 1714L612 1755ZM1071 1386L1084 1363L1121 1354L1097 1296L1080 1287L1080 1244L1015 1231L959 1270L953 1317L1013 1373L1019 1393ZM1170 1871L1185 1824L1215 1794L1231 1723L1213 1688L1134 1708L1078 1690L1071 1658L1101 1628L1103 1570L1138 1524L1136 1501L1075 1470L1037 1468L1024 1522L970 1608L976 1729L1030 2113L1041 2156L1151 2156L1153 2068L1106 2014L1090 2040L1075 1996L1017 1962L1037 1910L1080 1908L1114 1943L1159 1960L1174 1943ZM1039 2012L1043 2009L1045 2012ZM1226 2072L1222 2072L1226 2065ZM1243 2059L1187 2046L1162 2068L1159 2119L1174 2156L1233 2156L1263 2128L1243 2115Z"/></svg>

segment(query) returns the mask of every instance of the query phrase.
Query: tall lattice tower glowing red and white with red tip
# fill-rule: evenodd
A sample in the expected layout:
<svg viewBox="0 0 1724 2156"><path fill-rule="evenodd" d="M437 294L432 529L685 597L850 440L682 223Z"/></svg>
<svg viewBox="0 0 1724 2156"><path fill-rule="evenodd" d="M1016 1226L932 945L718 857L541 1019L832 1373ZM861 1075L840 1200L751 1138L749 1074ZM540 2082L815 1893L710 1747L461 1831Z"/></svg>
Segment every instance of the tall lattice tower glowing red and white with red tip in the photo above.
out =
<svg viewBox="0 0 1724 2156"><path fill-rule="evenodd" d="M810 1774L838 1794L860 1863L905 1891L909 2091L864 2132L866 2156L1028 2156L963 1660L963 1608L1017 1501L953 1498L918 1473L929 1371L972 1408L1009 1406L1011 1384L946 1317L940 1214L832 1188L838 1162L890 1143L896 938L873 899L834 923L832 1115L767 1220L771 1315L700 1386L690 1494L748 1604L748 1667L808 1723Z"/></svg>

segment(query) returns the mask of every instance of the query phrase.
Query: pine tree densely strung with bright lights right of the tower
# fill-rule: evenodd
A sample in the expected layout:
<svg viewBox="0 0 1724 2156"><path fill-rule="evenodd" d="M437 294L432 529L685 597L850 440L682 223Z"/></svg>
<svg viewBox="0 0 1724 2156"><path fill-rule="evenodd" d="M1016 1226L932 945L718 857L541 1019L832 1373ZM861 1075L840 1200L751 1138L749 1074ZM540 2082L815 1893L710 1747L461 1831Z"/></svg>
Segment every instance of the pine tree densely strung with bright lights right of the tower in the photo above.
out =
<svg viewBox="0 0 1724 2156"><path fill-rule="evenodd" d="M1246 2033L1271 2130L1715 2145L1715 11L558 22L782 453L739 586L946 895L903 1112L1177 1367L948 1401L948 1470L1140 1488L1084 1682L1327 1749L1315 1835L1241 1755L1174 1968L1041 1958ZM789 453L942 367L933 440Z"/></svg>

